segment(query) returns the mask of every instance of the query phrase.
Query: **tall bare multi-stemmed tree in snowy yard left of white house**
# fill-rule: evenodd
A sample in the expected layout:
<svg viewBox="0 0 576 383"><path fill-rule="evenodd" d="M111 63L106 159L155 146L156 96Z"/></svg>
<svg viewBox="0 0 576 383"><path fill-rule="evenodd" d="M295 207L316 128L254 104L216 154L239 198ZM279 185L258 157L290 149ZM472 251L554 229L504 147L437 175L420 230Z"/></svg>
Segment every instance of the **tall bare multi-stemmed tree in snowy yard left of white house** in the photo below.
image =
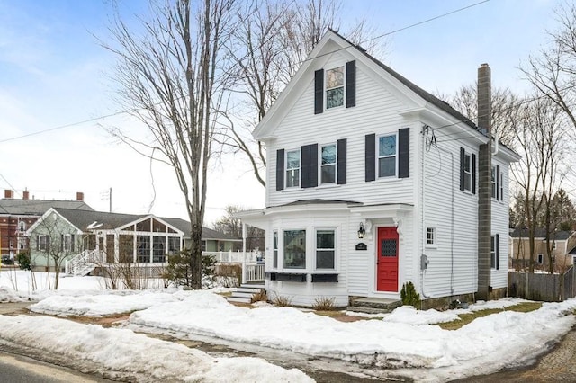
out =
<svg viewBox="0 0 576 383"><path fill-rule="evenodd" d="M112 129L140 154L174 169L191 222L193 289L202 288L202 221L207 169L228 68L221 46L229 39L235 0L175 0L151 4L149 20L130 31L116 15L113 76L121 101L148 129L151 142Z"/></svg>

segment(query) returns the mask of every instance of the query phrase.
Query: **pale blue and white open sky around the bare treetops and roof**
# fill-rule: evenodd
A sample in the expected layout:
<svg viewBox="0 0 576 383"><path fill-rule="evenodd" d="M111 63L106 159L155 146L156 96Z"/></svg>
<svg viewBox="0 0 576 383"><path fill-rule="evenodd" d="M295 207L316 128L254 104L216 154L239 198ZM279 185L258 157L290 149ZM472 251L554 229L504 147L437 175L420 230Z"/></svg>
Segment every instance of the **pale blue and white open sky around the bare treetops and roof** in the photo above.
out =
<svg viewBox="0 0 576 383"><path fill-rule="evenodd" d="M340 31L365 18L377 34L390 33L379 39L383 61L428 92L453 94L489 63L493 86L523 93L518 67L545 44L559 2L481 1L343 0ZM120 9L130 20L148 8L127 0ZM82 191L102 211L112 190L112 211L187 218L173 170L106 132L114 126L146 134L114 102L113 60L96 39L105 40L111 14L111 0L0 0L0 190L49 200ZM207 226L228 205L264 207L264 188L243 156L214 161L209 177Z"/></svg>

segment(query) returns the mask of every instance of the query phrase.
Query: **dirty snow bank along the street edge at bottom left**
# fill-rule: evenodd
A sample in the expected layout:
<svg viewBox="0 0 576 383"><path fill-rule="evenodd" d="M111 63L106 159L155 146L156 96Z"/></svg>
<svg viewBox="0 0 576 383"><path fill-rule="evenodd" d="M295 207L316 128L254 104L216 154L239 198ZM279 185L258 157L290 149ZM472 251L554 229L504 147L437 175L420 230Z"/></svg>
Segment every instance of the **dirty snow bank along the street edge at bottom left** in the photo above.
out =
<svg viewBox="0 0 576 383"><path fill-rule="evenodd" d="M257 358L212 358L181 344L151 339L127 329L81 325L38 316L0 316L2 338L63 361L91 362L111 379L140 382L311 382L300 370L285 370ZM70 366L74 367L74 366Z"/></svg>

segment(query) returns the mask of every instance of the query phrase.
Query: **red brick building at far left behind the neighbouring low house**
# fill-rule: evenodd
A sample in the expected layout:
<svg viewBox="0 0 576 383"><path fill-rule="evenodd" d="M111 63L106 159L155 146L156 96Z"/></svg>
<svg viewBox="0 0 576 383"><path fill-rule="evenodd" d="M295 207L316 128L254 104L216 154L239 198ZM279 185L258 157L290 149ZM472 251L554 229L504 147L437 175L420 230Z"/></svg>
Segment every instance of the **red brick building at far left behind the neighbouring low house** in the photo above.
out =
<svg viewBox="0 0 576 383"><path fill-rule="evenodd" d="M76 200L35 200L29 191L23 191L22 199L14 198L14 191L4 190L0 200L0 254L14 259L28 251L28 227L50 208L91 210L84 201L84 193L76 192Z"/></svg>

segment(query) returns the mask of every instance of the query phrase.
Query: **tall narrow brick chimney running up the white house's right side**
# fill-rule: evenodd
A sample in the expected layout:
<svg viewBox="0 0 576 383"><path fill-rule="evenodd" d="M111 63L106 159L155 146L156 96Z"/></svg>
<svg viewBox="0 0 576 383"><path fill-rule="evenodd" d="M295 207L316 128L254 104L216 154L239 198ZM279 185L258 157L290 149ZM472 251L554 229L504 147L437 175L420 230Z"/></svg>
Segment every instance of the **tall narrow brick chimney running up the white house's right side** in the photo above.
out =
<svg viewBox="0 0 576 383"><path fill-rule="evenodd" d="M478 291L477 299L491 298L491 70L478 68L478 128L490 140L478 148Z"/></svg>

